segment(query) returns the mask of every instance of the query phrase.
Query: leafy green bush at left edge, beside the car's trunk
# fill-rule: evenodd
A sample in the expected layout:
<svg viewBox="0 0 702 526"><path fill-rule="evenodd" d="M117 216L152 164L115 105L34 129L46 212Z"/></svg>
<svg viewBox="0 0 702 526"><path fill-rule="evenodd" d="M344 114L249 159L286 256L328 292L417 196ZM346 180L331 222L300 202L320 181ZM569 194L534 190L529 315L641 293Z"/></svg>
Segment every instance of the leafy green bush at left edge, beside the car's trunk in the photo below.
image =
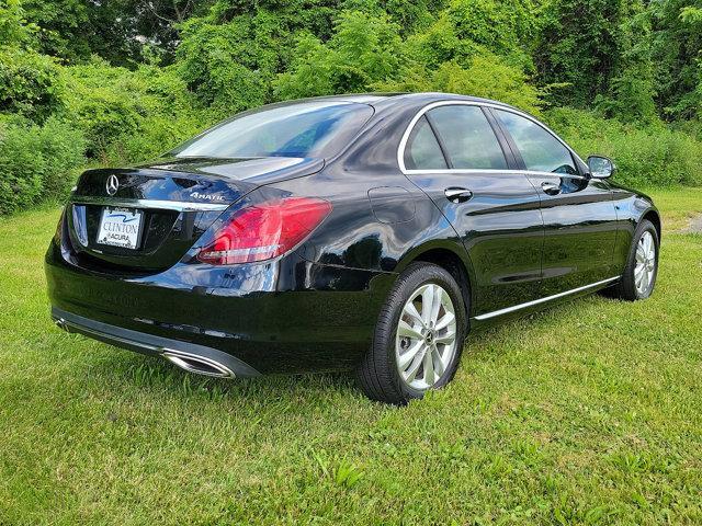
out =
<svg viewBox="0 0 702 526"><path fill-rule="evenodd" d="M43 126L0 122L0 215L63 198L83 162L80 132L55 117Z"/></svg>

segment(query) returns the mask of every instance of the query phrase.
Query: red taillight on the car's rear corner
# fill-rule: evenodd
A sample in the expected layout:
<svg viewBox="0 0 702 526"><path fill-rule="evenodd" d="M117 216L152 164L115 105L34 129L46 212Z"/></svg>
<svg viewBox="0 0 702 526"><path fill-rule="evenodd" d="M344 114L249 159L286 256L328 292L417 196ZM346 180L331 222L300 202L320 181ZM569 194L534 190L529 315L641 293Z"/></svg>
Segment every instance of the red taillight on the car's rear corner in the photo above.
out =
<svg viewBox="0 0 702 526"><path fill-rule="evenodd" d="M286 197L248 206L215 233L197 260L212 265L270 260L302 242L329 213L329 203L313 197Z"/></svg>

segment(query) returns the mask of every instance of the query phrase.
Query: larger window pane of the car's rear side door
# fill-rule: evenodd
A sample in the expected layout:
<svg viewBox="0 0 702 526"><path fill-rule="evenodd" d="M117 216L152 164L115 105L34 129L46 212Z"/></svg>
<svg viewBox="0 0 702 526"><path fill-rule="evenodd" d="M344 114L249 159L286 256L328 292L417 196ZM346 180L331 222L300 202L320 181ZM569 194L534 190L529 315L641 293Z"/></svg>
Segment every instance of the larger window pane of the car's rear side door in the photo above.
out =
<svg viewBox="0 0 702 526"><path fill-rule="evenodd" d="M505 155L487 117L477 106L439 106L429 118L456 169L503 169Z"/></svg>

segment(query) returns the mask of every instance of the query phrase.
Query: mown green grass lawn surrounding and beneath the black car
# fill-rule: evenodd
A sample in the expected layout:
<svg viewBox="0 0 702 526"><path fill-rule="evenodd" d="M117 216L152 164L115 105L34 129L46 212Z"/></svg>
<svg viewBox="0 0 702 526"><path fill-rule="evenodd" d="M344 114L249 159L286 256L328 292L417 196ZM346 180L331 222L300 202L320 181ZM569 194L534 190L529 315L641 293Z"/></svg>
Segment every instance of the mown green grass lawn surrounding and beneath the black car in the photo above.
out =
<svg viewBox="0 0 702 526"><path fill-rule="evenodd" d="M702 191L652 192L666 226ZM0 220L0 524L701 524L702 236L647 301L469 338L404 409L344 375L220 381L54 328L55 208Z"/></svg>

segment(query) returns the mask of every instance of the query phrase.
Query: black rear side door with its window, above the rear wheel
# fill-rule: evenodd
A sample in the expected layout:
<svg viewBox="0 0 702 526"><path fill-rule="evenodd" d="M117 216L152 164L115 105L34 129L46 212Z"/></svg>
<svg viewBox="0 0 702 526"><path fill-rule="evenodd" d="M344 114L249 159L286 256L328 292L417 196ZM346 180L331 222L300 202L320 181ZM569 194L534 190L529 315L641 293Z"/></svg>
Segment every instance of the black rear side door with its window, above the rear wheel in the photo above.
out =
<svg viewBox="0 0 702 526"><path fill-rule="evenodd" d="M417 119L404 151L406 175L441 209L473 266L473 315L540 294L540 199L513 168L508 145L479 105L434 104Z"/></svg>

